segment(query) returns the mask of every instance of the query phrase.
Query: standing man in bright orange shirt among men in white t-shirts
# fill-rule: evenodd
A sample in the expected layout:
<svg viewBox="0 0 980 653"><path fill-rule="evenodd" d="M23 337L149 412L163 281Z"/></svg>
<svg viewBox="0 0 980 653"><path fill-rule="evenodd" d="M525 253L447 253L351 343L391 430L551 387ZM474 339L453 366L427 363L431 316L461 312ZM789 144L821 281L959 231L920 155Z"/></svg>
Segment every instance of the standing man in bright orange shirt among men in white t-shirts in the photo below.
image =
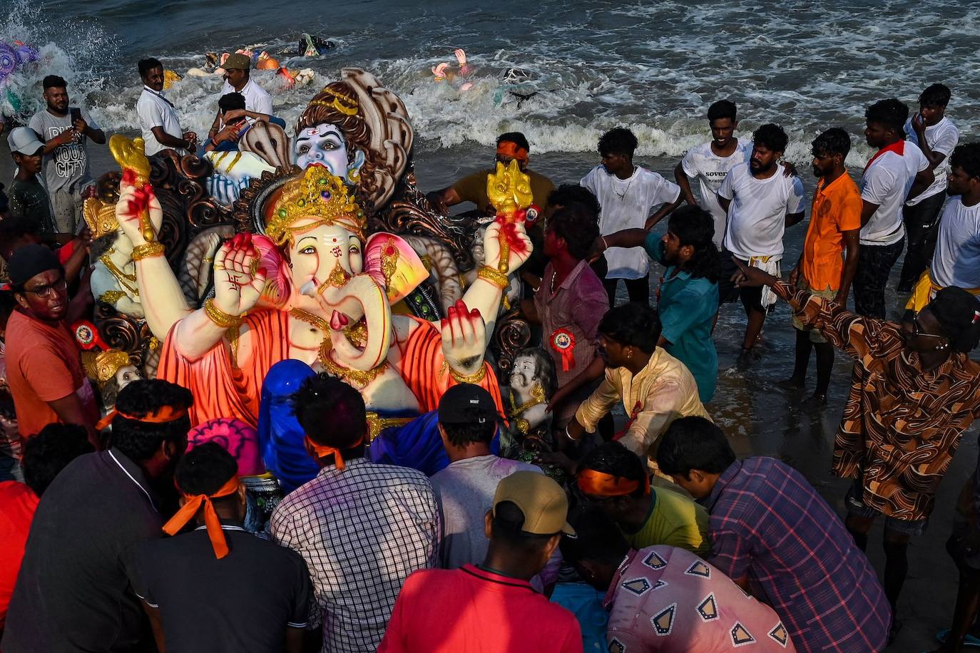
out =
<svg viewBox="0 0 980 653"><path fill-rule="evenodd" d="M840 127L832 127L812 143L813 174L819 178L813 193L809 230L800 261L790 273L790 283L809 290L811 295L832 300L842 306L848 302L851 282L858 269L858 233L861 199L844 160L851 150L851 137ZM847 250L847 258L842 255ZM816 329L793 316L796 329L796 364L788 386L803 388L807 383L810 347L816 350L816 388L813 401L827 400L830 371L834 366L834 347Z"/></svg>

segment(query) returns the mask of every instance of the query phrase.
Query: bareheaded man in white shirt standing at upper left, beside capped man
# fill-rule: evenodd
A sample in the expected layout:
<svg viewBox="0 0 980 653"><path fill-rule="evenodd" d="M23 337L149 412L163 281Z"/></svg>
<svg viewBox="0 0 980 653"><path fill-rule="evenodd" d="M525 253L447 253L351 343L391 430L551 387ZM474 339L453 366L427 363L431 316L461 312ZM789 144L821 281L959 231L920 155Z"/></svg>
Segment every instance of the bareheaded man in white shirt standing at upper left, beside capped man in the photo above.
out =
<svg viewBox="0 0 980 653"><path fill-rule="evenodd" d="M162 150L192 150L197 145L197 134L183 131L173 103L164 95L164 65L159 59L141 59L139 76L143 80L143 92L136 101L136 114L143 132L146 156Z"/></svg>

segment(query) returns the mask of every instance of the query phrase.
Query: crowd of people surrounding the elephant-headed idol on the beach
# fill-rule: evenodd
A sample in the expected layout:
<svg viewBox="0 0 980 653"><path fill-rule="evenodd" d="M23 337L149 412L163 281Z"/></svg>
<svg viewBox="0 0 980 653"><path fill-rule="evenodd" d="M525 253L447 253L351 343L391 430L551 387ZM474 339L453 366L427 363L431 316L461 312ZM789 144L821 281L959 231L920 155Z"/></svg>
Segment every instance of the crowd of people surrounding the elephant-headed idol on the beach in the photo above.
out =
<svg viewBox="0 0 980 653"><path fill-rule="evenodd" d="M256 121L284 125L248 57L222 68L199 142L162 64L139 62L147 155L234 150ZM527 354L526 372L515 361L511 383L531 388L521 408L546 405L548 426L507 452L501 433L522 410L502 415L486 389L453 385L438 400L445 461L431 475L371 461L365 398L328 371L266 379L301 430L274 459L233 415L193 423L204 397L162 379L124 384L102 415L69 325L91 314L81 206L88 141L106 134L63 78L43 85L46 108L8 136L18 170L0 207L5 653L863 652L901 628L908 543L980 416L968 356L980 340L980 142L959 143L945 85L926 88L911 117L896 99L867 108L875 154L859 183L845 165L852 135L819 133L810 202L804 172L783 161L783 128L736 136L728 100L708 109L711 140L674 181L634 163L623 127L599 140L599 165L557 187L529 168L522 134L501 135L495 161L517 163L541 209L517 275L543 353ZM339 133L306 131L325 140L304 156L330 157ZM485 215L491 173L428 199ZM785 231L808 206L784 281ZM903 253L909 299L890 321L885 289ZM772 306L792 306L786 384L808 384L815 351L812 409L827 401L834 350L855 360L832 459L853 480L843 518L793 467L739 460L711 421L715 323L736 300L746 367ZM980 466L948 545L959 587L943 651L978 641L978 484ZM864 554L879 520L880 580Z"/></svg>

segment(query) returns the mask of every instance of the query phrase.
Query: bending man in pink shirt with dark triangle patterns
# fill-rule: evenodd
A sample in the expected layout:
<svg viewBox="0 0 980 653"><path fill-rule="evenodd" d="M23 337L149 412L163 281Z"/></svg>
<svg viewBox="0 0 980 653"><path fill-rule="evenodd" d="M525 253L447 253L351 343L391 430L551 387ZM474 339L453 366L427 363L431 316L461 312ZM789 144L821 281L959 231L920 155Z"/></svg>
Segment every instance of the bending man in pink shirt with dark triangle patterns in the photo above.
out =
<svg viewBox="0 0 980 653"><path fill-rule="evenodd" d="M597 508L571 522L562 555L586 583L606 590L611 653L795 651L772 608L746 594L694 553L673 546L631 549Z"/></svg>

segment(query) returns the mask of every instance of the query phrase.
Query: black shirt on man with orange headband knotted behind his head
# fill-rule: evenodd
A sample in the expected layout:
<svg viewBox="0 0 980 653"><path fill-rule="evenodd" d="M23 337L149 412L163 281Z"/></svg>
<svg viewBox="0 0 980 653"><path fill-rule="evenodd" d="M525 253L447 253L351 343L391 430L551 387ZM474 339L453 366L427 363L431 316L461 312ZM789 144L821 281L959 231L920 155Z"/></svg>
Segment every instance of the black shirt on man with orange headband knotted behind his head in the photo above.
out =
<svg viewBox="0 0 980 653"><path fill-rule="evenodd" d="M307 624L306 562L240 527L221 528L221 559L204 527L140 547L136 593L160 610L168 651L280 653L286 628Z"/></svg>

